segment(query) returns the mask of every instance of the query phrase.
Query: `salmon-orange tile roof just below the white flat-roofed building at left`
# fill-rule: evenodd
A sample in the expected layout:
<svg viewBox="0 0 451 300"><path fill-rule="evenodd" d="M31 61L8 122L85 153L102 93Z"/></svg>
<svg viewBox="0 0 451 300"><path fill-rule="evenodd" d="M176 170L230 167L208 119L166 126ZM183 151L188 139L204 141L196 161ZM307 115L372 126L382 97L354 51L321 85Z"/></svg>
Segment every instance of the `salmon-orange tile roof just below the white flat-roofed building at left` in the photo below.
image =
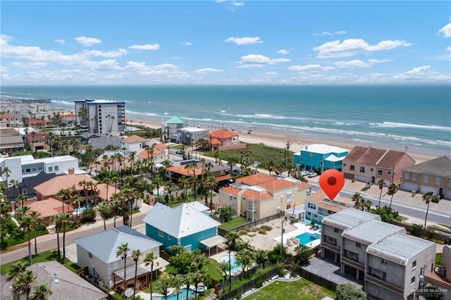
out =
<svg viewBox="0 0 451 300"><path fill-rule="evenodd" d="M69 189L73 185L75 185L76 191L81 191L83 187L78 186L78 182L82 180L92 181L97 184L97 180L94 180L85 174L59 175L52 178L51 180L47 180L46 182L37 185L35 187L35 191L39 192L44 197L54 196L58 194L58 191L60 189Z"/></svg>

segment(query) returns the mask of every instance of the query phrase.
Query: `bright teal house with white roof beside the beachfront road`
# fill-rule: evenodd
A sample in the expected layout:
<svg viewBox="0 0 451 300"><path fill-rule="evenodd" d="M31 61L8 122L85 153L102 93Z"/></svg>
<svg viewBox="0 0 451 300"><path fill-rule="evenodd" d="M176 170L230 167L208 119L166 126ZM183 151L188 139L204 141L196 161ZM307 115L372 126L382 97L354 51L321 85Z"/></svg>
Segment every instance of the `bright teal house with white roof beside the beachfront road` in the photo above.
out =
<svg viewBox="0 0 451 300"><path fill-rule="evenodd" d="M326 144L311 144L304 146L299 154L294 154L296 168L300 170L328 169L342 170L343 159L349 153L348 149Z"/></svg>

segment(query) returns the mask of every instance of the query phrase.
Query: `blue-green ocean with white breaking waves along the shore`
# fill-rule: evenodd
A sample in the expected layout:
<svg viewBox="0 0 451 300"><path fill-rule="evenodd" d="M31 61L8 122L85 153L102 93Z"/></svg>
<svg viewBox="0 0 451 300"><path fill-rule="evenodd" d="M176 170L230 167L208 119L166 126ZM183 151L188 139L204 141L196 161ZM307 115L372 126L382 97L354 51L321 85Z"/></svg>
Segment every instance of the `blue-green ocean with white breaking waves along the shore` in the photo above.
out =
<svg viewBox="0 0 451 300"><path fill-rule="evenodd" d="M27 86L1 87L1 99L125 101L127 120L281 132L299 137L451 154L450 86Z"/></svg>

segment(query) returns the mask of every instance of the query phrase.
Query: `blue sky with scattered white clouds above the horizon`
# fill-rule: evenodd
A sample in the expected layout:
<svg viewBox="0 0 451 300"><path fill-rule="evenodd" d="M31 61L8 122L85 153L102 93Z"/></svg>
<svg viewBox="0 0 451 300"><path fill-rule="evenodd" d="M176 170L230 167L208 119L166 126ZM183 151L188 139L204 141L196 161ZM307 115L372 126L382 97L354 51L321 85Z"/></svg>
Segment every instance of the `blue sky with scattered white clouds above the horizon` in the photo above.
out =
<svg viewBox="0 0 451 300"><path fill-rule="evenodd" d="M1 85L451 82L448 1L1 1Z"/></svg>

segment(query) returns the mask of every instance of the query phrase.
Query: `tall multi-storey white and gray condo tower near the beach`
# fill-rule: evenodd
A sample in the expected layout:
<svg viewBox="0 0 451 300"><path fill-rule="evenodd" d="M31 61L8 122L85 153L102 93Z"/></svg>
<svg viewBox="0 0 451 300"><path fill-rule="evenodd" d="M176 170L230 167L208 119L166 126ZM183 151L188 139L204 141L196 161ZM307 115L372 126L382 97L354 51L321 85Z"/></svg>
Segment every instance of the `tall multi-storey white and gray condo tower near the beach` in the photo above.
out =
<svg viewBox="0 0 451 300"><path fill-rule="evenodd" d="M125 131L125 102L110 100L75 100L78 124L90 133L118 135Z"/></svg>

